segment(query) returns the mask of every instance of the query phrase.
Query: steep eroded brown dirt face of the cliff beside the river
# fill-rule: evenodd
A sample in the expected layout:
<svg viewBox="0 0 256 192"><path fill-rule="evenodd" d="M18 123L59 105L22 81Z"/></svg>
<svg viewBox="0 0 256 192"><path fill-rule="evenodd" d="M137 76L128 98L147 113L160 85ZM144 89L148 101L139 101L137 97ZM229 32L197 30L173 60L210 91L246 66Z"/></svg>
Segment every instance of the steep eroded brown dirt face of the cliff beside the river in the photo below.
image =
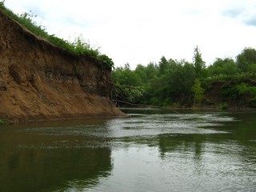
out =
<svg viewBox="0 0 256 192"><path fill-rule="evenodd" d="M0 118L11 122L123 115L110 72L25 30L0 10Z"/></svg>

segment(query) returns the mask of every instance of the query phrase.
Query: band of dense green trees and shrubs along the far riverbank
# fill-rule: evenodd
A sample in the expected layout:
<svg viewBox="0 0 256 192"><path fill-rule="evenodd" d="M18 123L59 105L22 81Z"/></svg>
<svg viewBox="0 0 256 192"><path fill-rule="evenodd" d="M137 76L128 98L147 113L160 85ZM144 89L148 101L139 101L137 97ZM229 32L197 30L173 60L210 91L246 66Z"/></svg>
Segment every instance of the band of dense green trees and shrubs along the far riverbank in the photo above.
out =
<svg viewBox="0 0 256 192"><path fill-rule="evenodd" d="M131 70L127 63L112 76L117 101L155 106L256 107L256 50L216 58L206 66L198 46L193 62L166 59Z"/></svg>

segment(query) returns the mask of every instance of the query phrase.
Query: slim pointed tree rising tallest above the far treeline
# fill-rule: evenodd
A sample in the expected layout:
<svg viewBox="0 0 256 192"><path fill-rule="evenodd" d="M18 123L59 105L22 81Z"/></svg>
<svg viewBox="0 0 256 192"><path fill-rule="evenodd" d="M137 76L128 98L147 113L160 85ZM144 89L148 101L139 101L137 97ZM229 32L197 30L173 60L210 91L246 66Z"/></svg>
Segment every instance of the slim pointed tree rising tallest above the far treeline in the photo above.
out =
<svg viewBox="0 0 256 192"><path fill-rule="evenodd" d="M198 46L194 48L194 72L195 77L198 79L204 78L206 74L206 62L202 61L202 54L198 49Z"/></svg>

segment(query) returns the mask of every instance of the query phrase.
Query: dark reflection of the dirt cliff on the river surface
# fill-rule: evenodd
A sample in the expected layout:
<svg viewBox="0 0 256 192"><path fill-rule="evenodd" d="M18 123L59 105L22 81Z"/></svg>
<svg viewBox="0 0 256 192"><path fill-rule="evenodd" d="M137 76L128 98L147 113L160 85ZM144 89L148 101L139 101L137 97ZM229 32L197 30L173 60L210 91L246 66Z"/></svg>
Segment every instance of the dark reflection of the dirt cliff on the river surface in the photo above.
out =
<svg viewBox="0 0 256 192"><path fill-rule="evenodd" d="M79 134L70 135L71 129ZM71 182L82 181L84 187L107 177L113 169L110 147L80 135L83 129L1 128L0 191L58 191Z"/></svg>

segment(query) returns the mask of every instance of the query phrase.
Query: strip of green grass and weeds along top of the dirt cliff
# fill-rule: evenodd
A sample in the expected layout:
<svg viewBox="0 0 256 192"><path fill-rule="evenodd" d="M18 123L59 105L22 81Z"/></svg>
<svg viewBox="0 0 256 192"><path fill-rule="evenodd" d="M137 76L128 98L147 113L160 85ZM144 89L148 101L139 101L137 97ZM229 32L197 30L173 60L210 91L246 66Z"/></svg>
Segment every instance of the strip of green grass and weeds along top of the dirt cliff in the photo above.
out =
<svg viewBox="0 0 256 192"><path fill-rule="evenodd" d="M107 70L114 69L114 62L106 54L101 54L98 49L93 49L90 47L90 44L85 42L82 36L75 38L74 42L66 41L62 38L58 38L55 34L48 34L46 32L45 26L38 26L34 22L34 18L37 15L33 14L31 11L29 13L14 14L13 11L6 8L4 5L5 1L0 1L0 9L10 18L13 18L16 22L25 26L27 30L30 30L33 34L38 37L46 39L47 42L59 46L64 50L68 50L73 54L86 55L90 58L94 58L96 62L100 63L102 66L105 66Z"/></svg>

